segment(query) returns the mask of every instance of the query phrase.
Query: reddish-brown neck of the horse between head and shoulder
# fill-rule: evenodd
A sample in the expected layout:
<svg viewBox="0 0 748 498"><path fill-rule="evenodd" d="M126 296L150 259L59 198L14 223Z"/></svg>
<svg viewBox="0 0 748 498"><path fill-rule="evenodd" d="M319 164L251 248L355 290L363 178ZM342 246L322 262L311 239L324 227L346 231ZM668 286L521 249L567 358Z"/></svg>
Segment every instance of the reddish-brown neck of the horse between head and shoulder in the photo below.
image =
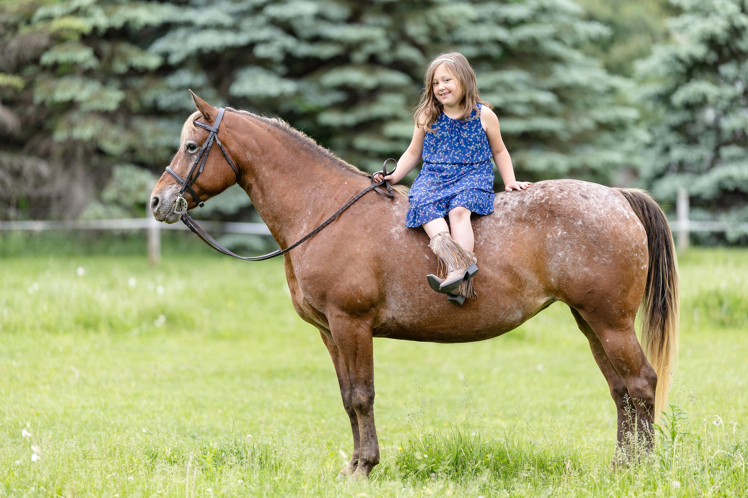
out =
<svg viewBox="0 0 748 498"><path fill-rule="evenodd" d="M242 187L275 241L287 247L361 190L367 178L299 147L283 131L268 134L262 146L255 142L252 164L242 165Z"/></svg>

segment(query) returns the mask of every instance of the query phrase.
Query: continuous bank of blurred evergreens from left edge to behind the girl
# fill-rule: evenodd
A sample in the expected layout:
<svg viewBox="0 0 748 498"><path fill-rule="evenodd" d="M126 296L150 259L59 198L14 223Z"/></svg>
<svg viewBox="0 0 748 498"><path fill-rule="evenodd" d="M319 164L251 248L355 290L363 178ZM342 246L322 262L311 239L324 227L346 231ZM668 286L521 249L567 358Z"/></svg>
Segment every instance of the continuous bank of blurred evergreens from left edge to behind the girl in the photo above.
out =
<svg viewBox="0 0 748 498"><path fill-rule="evenodd" d="M117 166L168 164L188 88L381 167L448 49L475 66L522 178L610 182L631 163L626 81L582 51L609 30L566 0L19 0L0 16L2 217L77 216L96 198L87 215L105 211ZM23 161L43 174L22 178Z"/></svg>

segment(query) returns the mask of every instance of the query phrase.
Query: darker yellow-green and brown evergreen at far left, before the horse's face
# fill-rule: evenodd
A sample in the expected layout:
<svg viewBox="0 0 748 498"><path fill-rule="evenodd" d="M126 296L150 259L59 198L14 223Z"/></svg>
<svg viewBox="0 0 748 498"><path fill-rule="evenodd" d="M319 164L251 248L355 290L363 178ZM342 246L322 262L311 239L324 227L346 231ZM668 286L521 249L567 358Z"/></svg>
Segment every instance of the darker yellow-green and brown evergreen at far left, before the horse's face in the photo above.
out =
<svg viewBox="0 0 748 498"><path fill-rule="evenodd" d="M169 161L182 116L151 102L168 81L147 48L179 12L155 1L0 4L0 216L74 217L112 172L114 187L142 187L144 168ZM144 213L147 193L114 187L89 214Z"/></svg>

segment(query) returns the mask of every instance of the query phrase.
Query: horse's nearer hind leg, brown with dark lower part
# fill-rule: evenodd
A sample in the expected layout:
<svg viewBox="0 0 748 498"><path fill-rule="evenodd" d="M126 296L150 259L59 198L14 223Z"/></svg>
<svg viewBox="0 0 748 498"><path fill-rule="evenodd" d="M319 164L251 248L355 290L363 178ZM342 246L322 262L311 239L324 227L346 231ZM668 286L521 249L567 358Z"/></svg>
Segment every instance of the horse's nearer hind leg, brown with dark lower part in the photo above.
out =
<svg viewBox="0 0 748 498"><path fill-rule="evenodd" d="M628 397L624 402L626 442L641 442L651 449L654 442L654 390L657 373L647 361L634 330L634 317L611 319L606 314L580 311L595 332L605 355L623 379ZM619 391L622 393L622 391ZM620 409L620 408L619 408Z"/></svg>

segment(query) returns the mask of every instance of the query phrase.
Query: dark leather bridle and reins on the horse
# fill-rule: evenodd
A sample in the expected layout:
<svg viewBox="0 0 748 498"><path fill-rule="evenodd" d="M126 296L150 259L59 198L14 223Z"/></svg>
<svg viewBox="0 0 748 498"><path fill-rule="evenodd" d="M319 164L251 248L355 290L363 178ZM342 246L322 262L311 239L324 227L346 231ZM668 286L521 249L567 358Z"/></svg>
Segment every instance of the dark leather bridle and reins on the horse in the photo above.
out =
<svg viewBox="0 0 748 498"><path fill-rule="evenodd" d="M177 194L177 199L174 201L174 213L181 214L181 220L182 222L187 225L187 228L189 228L193 234L197 235L197 237L200 237L200 240L202 240L204 243L208 244L212 249L215 249L218 252L221 252L221 254L225 254L228 256L233 256L234 258L243 259L244 261L263 261L270 258L275 258L276 256L280 256L283 254L286 254L286 252L289 252L291 249L301 245L301 243L304 243L305 241L309 240L311 237L313 237L315 234L317 234L319 231L322 230L322 228L325 228L325 226L329 225L331 222L333 222L337 217L340 216L340 214L343 213L343 211L346 211L346 209L350 208L351 205L358 201L358 199L361 199L366 193L368 193L370 190L376 190L377 193L381 194L382 196L387 197L387 199L393 199L395 196L395 193L392 190L392 187L390 186L390 181L384 180L382 178L382 181L374 181L374 177L371 177L371 184L366 187L364 190L361 190L361 192L357 193L355 196L353 196L351 199L349 199L346 204L343 205L340 209L335 211L335 213L329 217L327 220L320 223L316 228L314 228L312 231L310 231L308 234L304 235L304 237L301 237L299 240L297 240L295 243L292 243L290 246L286 247L286 249L275 249L273 252L269 252L268 254L261 255L261 256L239 256L231 252L229 249L226 249L224 246L221 246L220 243L218 243L213 237L211 237L203 228L200 228L200 225L197 225L197 222L192 219L192 217L187 214L187 201L184 198L185 192L188 193L190 196L192 196L192 199L194 199L195 202L197 202L197 205L200 206L200 208L205 205L205 202L200 200L200 197L197 196L197 193L192 189L192 185L194 185L194 182L197 181L197 177L200 176L200 173L203 172L203 169L205 169L205 163L208 159L208 155L210 153L210 149L213 146L213 143L218 143L218 147L221 148L221 152L224 154L224 158L226 158L227 163L229 166L231 166L231 169L233 169L234 174L236 175L236 183L239 183L239 169L236 168L236 166L233 164L231 159L229 158L229 155L226 152L226 149L224 149L224 146L221 144L221 140L218 140L218 127L221 126L221 119L224 117L224 112L226 111L225 108L218 109L218 116L215 118L215 126L206 125L204 122L200 122L195 120L194 124L197 126L200 126L200 128L205 128L210 133L208 134L208 138L203 143L203 146L200 147L200 152L197 154L197 158L195 158L194 163L192 164L189 172L187 173L186 178L182 178L177 172L174 171L174 169L171 169L171 166L166 166L166 171L174 176L177 181L180 182L180 185L182 186L180 188L180 192ZM395 168L392 171L387 171L387 162L393 161L395 163ZM199 167L198 167L199 164ZM197 172L195 170L197 169ZM387 161L384 161L384 164L381 166L381 173L383 177L386 177L387 175L391 175L393 172L395 172L395 169L397 169L397 161L390 158L387 159ZM194 173L194 176L193 176ZM381 190L379 188L381 185L384 185L384 187L387 188L387 190Z"/></svg>

